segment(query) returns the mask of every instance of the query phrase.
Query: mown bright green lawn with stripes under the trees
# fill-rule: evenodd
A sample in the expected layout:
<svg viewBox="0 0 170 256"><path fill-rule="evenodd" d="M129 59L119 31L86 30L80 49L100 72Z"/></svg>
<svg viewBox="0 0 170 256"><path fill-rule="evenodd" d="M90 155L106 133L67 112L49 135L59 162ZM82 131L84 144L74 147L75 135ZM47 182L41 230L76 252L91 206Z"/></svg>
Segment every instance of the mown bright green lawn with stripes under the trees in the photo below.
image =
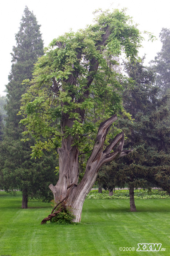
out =
<svg viewBox="0 0 170 256"><path fill-rule="evenodd" d="M0 256L170 255L170 200L86 199L82 224L55 225L41 220L50 203L30 201L21 209L21 193L0 192ZM161 243L165 251L138 252L138 243ZM135 251L119 251L134 247Z"/></svg>

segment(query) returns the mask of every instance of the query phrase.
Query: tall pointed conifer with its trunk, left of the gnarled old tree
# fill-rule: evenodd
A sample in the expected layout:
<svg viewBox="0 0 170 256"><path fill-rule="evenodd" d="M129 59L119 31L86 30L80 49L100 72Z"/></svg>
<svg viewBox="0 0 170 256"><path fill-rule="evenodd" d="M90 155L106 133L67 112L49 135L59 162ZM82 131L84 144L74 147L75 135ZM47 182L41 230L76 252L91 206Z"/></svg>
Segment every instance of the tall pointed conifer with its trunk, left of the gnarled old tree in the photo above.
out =
<svg viewBox="0 0 170 256"><path fill-rule="evenodd" d="M19 124L21 117L17 113L21 106L21 95L27 91L22 81L32 78L34 64L43 55L40 25L28 7L25 7L15 38L16 46L13 46L11 53L11 73L6 86L7 118L1 147L3 161L0 183L6 191L22 191L22 208L27 208L29 196L47 199L48 185L56 180L54 156L44 155L43 159L31 159L30 142L21 141L24 127Z"/></svg>

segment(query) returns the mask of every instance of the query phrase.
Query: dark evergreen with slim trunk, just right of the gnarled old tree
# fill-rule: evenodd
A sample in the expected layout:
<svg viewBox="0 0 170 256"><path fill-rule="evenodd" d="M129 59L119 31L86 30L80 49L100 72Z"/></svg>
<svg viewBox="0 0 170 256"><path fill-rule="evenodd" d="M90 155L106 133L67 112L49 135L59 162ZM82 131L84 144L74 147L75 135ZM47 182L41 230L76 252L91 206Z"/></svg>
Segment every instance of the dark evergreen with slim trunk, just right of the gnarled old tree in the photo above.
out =
<svg viewBox="0 0 170 256"><path fill-rule="evenodd" d="M102 176L106 170L103 187L109 189L124 187L127 183L130 209L136 211L134 188L150 189L155 185L169 188L170 129L166 125L169 111L168 98L158 98L160 89L154 86L154 74L143 67L143 60L126 63L126 72L133 79L133 85L127 84L123 91L123 102L133 122L126 118L120 120L119 125L128 136L126 148L133 147L134 151L127 157L107 164L99 174Z"/></svg>

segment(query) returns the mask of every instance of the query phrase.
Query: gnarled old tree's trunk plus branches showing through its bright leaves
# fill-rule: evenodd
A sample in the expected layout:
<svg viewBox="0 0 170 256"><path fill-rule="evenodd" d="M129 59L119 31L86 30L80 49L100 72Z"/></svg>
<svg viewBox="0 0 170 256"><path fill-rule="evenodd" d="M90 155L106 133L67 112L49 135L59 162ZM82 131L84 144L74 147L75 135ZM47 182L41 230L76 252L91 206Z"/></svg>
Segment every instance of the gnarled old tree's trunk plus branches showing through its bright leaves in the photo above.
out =
<svg viewBox="0 0 170 256"><path fill-rule="evenodd" d="M101 37L101 41L98 43L97 50L102 52L102 46L105 46L107 40L111 34L111 29L109 26L104 28L103 35ZM63 45L60 42L57 42L56 45L59 48L62 48ZM80 61L81 50L77 49L77 59ZM94 76L98 70L99 61L96 57L93 57L89 63L89 75L86 80L87 83L84 85L82 97L78 99L78 103L87 99L90 95L89 87L93 82ZM76 79L78 76L78 72L72 73L69 78L65 81L65 83L74 84L76 86ZM71 92L72 95L72 92ZM74 96L72 96L72 101L74 101ZM62 103L67 105L67 102ZM76 113L79 114L80 122L84 121L84 113L85 109L75 109ZM61 119L61 128L63 130L63 138L62 138L62 146L58 148L59 153L59 181L53 186L52 184L49 186L51 191L54 194L55 202L59 203L64 199L64 206L71 207L72 212L75 215L74 222L80 222L82 207L84 200L87 194L90 192L96 177L98 175L99 168L107 162L113 161L116 158L122 157L124 155L129 154L132 150L124 150L124 134L123 132L116 135L114 140L110 143L109 146L103 150L104 141L106 139L106 135L109 131L110 125L117 119L116 115L108 118L106 121L100 124L98 134L96 136L96 140L94 143L94 148L92 150L91 156L86 164L86 171L81 182L78 184L79 178L79 170L78 170L78 155L79 150L76 146L72 146L74 144L74 139L71 135L67 136L67 139L64 137L64 129L66 127L72 128L74 124L74 118L71 118L69 113L62 113ZM119 146L112 152L115 146L119 143ZM62 203L62 204L63 204ZM43 222L44 223L44 222Z"/></svg>

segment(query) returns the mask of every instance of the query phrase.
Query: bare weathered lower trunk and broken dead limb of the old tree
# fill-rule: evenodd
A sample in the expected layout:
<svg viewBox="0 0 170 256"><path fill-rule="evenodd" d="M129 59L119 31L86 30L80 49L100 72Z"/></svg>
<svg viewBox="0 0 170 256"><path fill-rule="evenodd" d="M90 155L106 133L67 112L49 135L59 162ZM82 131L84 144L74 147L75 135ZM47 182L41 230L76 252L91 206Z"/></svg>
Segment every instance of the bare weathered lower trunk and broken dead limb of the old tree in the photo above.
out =
<svg viewBox="0 0 170 256"><path fill-rule="evenodd" d="M100 124L98 134L90 158L86 164L86 172L82 181L78 184L78 154L79 151L73 144L73 139L68 136L62 140L62 147L58 149L59 153L59 180L53 186L49 186L54 194L55 202L59 203L65 197L64 204L71 208L75 215L74 222L80 222L82 207L87 194L90 192L99 168L107 162L113 161L119 157L129 154L132 150L123 150L124 134L123 132L115 136L114 140L103 151L104 141L110 129L110 125L117 119L116 115L108 118ZM119 146L112 152L113 148L119 143Z"/></svg>

